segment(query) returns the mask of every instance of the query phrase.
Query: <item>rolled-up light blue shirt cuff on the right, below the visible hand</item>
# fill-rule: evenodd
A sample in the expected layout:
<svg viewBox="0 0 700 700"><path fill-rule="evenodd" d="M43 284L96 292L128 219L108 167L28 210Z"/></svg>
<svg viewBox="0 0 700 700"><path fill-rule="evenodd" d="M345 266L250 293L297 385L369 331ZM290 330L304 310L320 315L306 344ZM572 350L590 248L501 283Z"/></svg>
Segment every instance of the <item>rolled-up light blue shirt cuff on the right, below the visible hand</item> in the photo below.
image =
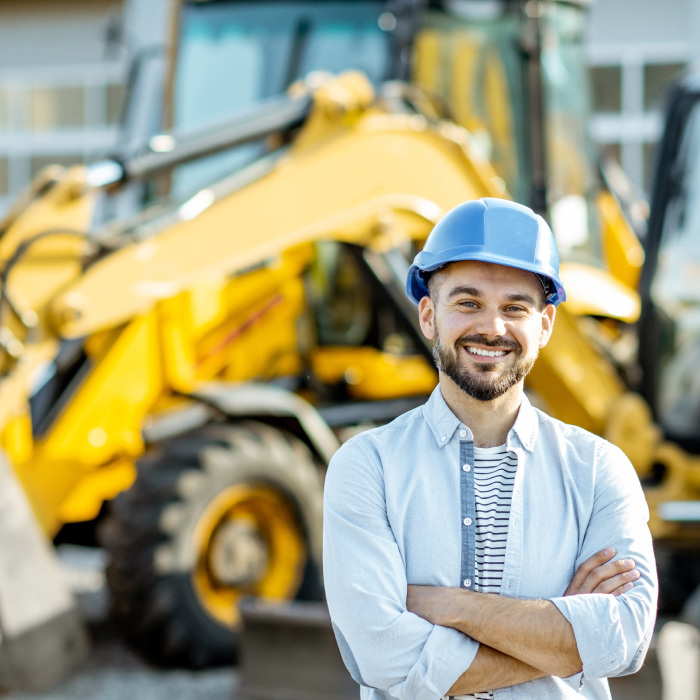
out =
<svg viewBox="0 0 700 700"><path fill-rule="evenodd" d="M624 664L627 644L613 596L589 593L552 598L551 601L574 630L576 647L583 664L580 684L586 678L606 678ZM578 675L564 680L571 685Z"/></svg>

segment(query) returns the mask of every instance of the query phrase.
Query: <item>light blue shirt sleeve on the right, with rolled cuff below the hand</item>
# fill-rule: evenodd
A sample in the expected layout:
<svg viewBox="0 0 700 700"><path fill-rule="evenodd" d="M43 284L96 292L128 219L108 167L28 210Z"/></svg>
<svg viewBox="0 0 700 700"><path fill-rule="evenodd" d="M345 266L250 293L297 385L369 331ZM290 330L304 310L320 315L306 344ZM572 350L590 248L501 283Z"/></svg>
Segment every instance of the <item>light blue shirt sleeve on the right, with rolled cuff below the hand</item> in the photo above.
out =
<svg viewBox="0 0 700 700"><path fill-rule="evenodd" d="M578 687L586 679L638 671L656 620L658 581L644 493L620 449L601 443L601 451L593 513L576 566L614 547L615 559L632 559L640 577L618 597L591 593L552 599L574 629L583 672L567 680Z"/></svg>

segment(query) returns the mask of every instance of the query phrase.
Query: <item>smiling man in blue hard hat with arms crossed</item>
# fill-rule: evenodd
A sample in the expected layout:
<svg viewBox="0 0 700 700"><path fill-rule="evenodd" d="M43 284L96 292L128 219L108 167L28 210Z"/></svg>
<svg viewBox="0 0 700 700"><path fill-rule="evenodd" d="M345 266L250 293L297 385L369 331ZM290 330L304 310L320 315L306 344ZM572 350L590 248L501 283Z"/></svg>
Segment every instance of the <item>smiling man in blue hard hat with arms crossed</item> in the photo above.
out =
<svg viewBox="0 0 700 700"><path fill-rule="evenodd" d="M363 700L610 698L654 626L648 509L619 449L523 393L566 298L549 227L461 204L407 294L440 384L345 443L325 486L326 594Z"/></svg>

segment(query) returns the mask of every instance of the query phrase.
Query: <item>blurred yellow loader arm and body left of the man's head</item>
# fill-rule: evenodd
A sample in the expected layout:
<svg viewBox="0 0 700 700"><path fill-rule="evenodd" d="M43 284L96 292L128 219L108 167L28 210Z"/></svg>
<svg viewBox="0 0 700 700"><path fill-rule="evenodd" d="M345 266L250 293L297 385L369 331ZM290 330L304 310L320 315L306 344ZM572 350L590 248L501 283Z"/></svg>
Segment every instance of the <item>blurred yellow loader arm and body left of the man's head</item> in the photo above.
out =
<svg viewBox="0 0 700 700"><path fill-rule="evenodd" d="M328 119L339 100L342 116ZM2 439L48 533L95 517L128 488L143 426L208 380L269 380L310 366L330 384L349 378L357 398L423 395L435 385L421 356L305 350L309 339L299 337L308 313L303 277L317 241L373 250L422 241L459 202L500 194L463 129L383 113L371 100L356 74L320 90L295 148L271 173L87 272L80 270L86 244L70 236L38 241L13 269L12 298L26 299L40 321L23 336L5 309L24 348L18 360L5 358ZM79 189L81 177L72 170L56 189ZM84 230L92 200L82 185L61 225ZM8 228L5 249L56 228L53 210L58 216L51 198L27 208ZM42 295L31 297L47 266ZM58 338L85 338L90 369L49 430L33 439L27 397Z"/></svg>

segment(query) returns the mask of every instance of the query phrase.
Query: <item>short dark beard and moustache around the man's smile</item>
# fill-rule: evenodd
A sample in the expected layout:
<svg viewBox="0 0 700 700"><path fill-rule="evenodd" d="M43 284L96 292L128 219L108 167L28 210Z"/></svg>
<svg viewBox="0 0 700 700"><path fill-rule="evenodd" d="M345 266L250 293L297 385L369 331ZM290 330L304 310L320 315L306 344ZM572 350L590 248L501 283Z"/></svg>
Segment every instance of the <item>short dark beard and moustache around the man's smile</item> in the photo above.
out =
<svg viewBox="0 0 700 700"><path fill-rule="evenodd" d="M500 376L492 377L497 364L484 363L476 371L470 371L462 366L459 353L466 345L482 345L490 348L503 348L515 355L515 362ZM454 349L450 350L440 342L440 336L435 333L433 343L433 359L436 367L446 374L463 392L477 401L493 401L503 396L511 387L527 377L535 364L534 357L523 357L523 349L513 340L488 340L480 335L462 336L455 341Z"/></svg>

